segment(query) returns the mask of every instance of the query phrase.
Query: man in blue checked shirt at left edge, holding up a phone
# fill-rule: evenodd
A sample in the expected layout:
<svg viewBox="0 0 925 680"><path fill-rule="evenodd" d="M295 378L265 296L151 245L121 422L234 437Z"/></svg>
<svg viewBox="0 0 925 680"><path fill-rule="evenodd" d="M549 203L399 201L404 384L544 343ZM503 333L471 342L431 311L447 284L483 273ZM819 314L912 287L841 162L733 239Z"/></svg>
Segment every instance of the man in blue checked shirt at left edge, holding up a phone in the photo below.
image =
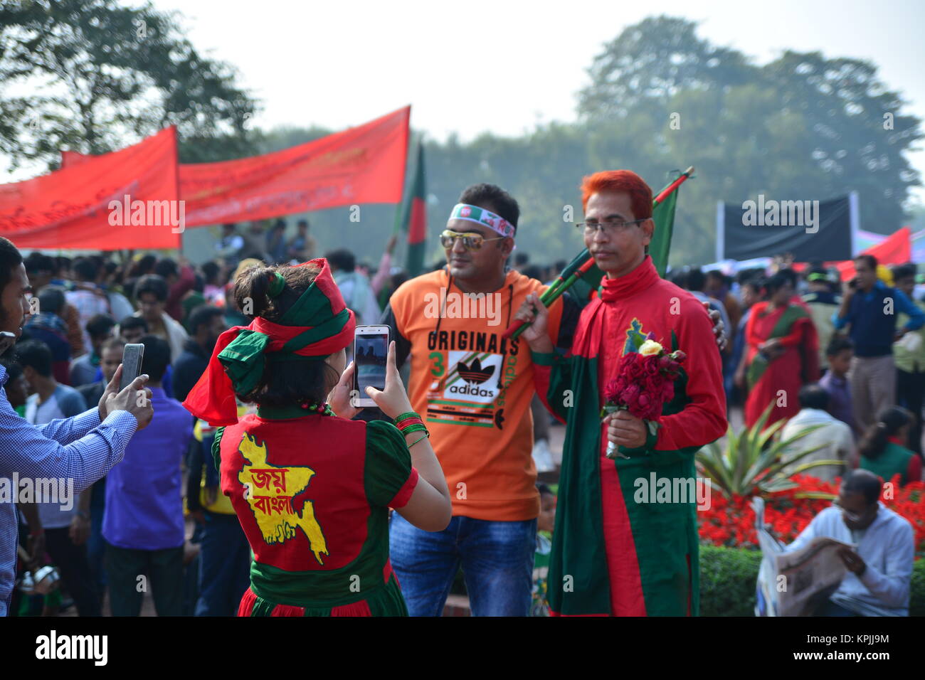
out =
<svg viewBox="0 0 925 680"><path fill-rule="evenodd" d="M0 237L0 354L22 334L30 292L22 255ZM121 461L131 436L151 422L154 408L151 390L144 387L147 376L117 392L121 376L120 365L95 408L43 426L19 417L6 399L6 389L0 388L0 616L9 609L16 574L19 489L35 488L38 479L60 479L72 480L73 493L79 494ZM6 378L6 368L0 365L0 386ZM141 390L144 399L139 399ZM40 558L41 530L31 534L29 543L31 558Z"/></svg>

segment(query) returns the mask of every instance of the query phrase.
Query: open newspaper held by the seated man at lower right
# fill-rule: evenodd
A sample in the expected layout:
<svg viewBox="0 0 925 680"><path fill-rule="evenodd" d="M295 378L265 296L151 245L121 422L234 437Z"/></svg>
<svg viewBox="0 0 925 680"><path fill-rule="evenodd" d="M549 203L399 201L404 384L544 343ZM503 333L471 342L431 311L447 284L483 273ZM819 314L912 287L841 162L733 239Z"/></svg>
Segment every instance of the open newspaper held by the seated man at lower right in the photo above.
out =
<svg viewBox="0 0 925 680"><path fill-rule="evenodd" d="M784 552L783 543L765 528L764 500L755 498L752 508L762 555L755 615L811 616L847 573L838 550L857 546L818 536L805 548Z"/></svg>

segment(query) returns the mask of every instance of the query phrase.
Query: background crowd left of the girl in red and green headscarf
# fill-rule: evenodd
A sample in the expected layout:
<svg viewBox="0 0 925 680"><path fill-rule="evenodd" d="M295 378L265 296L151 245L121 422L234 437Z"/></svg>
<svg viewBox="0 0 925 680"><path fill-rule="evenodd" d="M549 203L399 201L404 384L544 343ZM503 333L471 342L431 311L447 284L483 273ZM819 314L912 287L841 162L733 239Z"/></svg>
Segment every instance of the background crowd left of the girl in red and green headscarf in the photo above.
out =
<svg viewBox="0 0 925 680"><path fill-rule="evenodd" d="M30 314L2 360L16 413L33 425L84 413L103 398L125 345L138 342L158 413L158 427L137 433L122 463L80 493L72 508L19 503L20 542L28 555L19 562L19 576L50 560L69 596L66 608L99 615L108 593L114 615L138 615L142 593L151 592L161 615L237 612L249 583L251 549L218 491L211 453L216 428L192 418L180 402L206 370L219 335L251 321L234 298L240 272L265 263L298 264L316 254L307 220L289 240L285 229L276 220L264 239L260 223L243 234L226 225L215 259L199 265L135 253L69 258L34 252L23 258ZM377 295L388 303L407 278L390 266L395 242L388 241L374 276L356 266L350 251L327 253L339 290L351 308L362 310L358 320L375 323ZM185 516L194 518L193 541L200 546L195 575L188 573ZM146 587L138 587L137 575L146 575ZM31 598L15 590L14 596L12 614L54 615L61 606L59 590Z"/></svg>

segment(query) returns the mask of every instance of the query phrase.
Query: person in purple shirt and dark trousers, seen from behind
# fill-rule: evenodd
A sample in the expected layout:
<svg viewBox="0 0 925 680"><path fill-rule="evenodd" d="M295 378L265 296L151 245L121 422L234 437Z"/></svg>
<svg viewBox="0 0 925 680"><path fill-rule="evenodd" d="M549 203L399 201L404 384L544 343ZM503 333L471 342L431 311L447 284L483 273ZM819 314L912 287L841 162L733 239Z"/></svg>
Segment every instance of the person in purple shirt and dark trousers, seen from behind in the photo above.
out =
<svg viewBox="0 0 925 680"><path fill-rule="evenodd" d="M138 616L151 588L158 616L183 614L183 496L180 463L192 439L192 418L166 396L161 380L170 345L142 338L157 427L134 437L106 477L103 538L113 616Z"/></svg>

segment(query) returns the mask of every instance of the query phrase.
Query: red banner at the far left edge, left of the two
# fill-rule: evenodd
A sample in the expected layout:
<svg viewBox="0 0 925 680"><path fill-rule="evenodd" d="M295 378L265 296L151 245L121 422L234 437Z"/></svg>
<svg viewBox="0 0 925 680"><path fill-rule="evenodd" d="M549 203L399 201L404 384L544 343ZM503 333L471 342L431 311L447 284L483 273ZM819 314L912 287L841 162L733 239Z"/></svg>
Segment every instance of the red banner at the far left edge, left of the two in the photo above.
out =
<svg viewBox="0 0 925 680"><path fill-rule="evenodd" d="M23 248L179 248L177 131L0 185L0 234Z"/></svg>

